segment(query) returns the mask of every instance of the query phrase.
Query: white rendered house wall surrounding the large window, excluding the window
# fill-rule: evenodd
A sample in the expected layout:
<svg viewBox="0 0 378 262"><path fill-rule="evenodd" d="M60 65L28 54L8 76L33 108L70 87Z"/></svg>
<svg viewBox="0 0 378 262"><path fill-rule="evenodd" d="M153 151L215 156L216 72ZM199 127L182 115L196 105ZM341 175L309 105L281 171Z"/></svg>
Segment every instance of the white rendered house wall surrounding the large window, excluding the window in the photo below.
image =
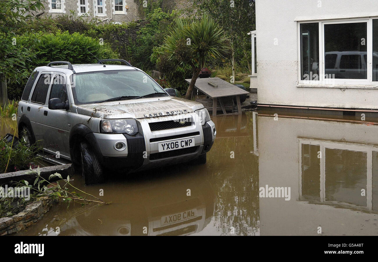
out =
<svg viewBox="0 0 378 262"><path fill-rule="evenodd" d="M296 86L296 20L377 15L376 0L256 0L258 103L378 109L378 90Z"/></svg>

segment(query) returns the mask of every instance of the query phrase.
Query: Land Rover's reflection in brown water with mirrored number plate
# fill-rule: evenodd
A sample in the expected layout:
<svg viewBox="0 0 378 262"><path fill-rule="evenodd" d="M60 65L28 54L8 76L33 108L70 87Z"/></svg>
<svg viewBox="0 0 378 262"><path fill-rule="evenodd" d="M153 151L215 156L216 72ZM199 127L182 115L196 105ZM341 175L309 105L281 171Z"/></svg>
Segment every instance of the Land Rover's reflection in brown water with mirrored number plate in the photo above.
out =
<svg viewBox="0 0 378 262"><path fill-rule="evenodd" d="M200 232L209 224L216 196L208 181L191 177L152 184L135 190L129 188L122 196L119 196L122 189L119 188L113 198L120 202L115 200L110 205L88 208L85 214L60 225L61 232L69 235L188 235ZM187 189L191 190L190 196ZM109 192L110 189L104 190ZM48 227L55 228L54 223L58 222L53 221Z"/></svg>

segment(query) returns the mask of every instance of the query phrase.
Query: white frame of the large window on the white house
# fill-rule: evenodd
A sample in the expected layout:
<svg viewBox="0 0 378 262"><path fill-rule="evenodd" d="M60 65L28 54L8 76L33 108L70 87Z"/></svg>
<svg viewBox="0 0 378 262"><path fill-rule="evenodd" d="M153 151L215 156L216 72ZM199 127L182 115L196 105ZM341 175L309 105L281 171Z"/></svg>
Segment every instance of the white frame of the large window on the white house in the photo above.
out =
<svg viewBox="0 0 378 262"><path fill-rule="evenodd" d="M378 81L373 80L373 19L378 17L340 18L330 20L297 21L297 57L298 86L300 87L343 87L343 88L376 88ZM367 79L327 79L324 65L324 25L340 23L367 23ZM301 24L319 23L319 80L301 80ZM369 66L370 65L370 66Z"/></svg>

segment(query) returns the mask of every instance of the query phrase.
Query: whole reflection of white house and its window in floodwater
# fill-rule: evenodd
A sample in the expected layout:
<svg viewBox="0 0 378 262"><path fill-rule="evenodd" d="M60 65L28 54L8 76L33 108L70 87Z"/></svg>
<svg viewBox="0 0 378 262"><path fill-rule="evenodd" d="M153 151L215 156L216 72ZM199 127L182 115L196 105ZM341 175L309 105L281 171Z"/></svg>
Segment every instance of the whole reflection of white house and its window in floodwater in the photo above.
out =
<svg viewBox="0 0 378 262"><path fill-rule="evenodd" d="M378 126L285 114L257 117L259 187L291 188L259 199L261 235L378 234Z"/></svg>

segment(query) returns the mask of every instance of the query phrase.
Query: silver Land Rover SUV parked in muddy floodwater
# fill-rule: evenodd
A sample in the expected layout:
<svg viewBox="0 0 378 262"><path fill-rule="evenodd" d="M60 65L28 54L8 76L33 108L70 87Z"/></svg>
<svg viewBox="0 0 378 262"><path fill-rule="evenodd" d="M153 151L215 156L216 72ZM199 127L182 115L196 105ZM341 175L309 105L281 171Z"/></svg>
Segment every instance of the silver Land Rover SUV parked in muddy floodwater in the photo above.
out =
<svg viewBox="0 0 378 262"><path fill-rule="evenodd" d="M37 67L19 102L19 138L81 166L85 184L102 182L105 170L206 163L216 129L203 105L125 60L105 61L115 60Z"/></svg>

